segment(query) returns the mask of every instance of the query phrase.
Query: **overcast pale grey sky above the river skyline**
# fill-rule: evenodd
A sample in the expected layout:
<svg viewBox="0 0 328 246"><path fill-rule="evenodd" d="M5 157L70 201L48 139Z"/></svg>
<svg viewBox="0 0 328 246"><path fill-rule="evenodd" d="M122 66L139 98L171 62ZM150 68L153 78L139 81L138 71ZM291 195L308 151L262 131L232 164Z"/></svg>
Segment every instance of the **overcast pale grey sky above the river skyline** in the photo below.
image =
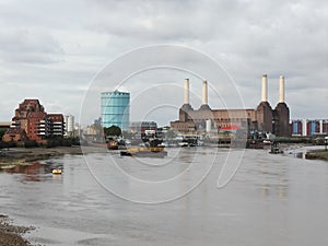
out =
<svg viewBox="0 0 328 246"><path fill-rule="evenodd" d="M222 78L209 75L212 108L222 107L221 97L227 107L236 107L229 99L238 97L245 108L256 108L266 73L272 107L279 99L279 75L284 75L291 118L328 118L326 0L0 0L0 121L10 121L24 98L38 98L48 113L79 120L82 112L87 125L99 115L98 93L120 89L131 93L131 120L167 125L184 103L184 79L191 78L191 105L198 108L201 78L208 73L134 71L118 86L121 81L105 72L115 73L115 61L130 52L138 63L136 50L163 44L203 54L229 75L234 90L224 90ZM189 56L176 54L166 56L189 68ZM208 68L198 65L196 70ZM85 107L99 78L108 83Z"/></svg>

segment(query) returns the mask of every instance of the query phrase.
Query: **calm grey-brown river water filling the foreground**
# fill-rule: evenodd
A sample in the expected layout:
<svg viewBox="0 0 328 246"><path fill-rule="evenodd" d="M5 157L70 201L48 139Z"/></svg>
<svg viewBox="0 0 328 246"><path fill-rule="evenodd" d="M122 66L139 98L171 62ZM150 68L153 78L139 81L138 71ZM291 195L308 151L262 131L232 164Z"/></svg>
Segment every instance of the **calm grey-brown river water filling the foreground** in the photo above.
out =
<svg viewBox="0 0 328 246"><path fill-rule="evenodd" d="M47 246L328 245L328 163L294 156L210 148L168 149L161 160L65 155L0 172L0 212L35 226L25 237Z"/></svg>

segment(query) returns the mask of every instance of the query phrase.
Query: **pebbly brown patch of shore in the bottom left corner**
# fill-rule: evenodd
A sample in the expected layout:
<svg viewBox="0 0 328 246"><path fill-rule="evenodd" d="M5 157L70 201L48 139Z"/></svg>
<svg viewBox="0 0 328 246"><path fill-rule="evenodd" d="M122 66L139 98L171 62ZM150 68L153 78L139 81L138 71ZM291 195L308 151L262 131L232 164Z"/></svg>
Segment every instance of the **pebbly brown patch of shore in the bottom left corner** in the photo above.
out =
<svg viewBox="0 0 328 246"><path fill-rule="evenodd" d="M23 237L23 234L32 230L35 230L35 227L14 225L8 215L0 214L0 245L33 246Z"/></svg>

